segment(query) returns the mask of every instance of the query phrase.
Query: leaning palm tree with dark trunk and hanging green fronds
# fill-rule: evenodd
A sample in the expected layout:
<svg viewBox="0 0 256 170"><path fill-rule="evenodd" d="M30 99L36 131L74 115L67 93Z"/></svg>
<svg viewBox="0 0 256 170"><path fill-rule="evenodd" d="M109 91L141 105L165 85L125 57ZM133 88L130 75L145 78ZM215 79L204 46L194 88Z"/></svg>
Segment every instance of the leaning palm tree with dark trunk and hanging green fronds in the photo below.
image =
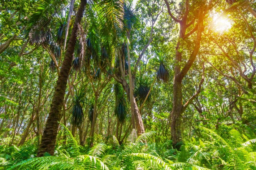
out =
<svg viewBox="0 0 256 170"><path fill-rule="evenodd" d="M71 7L72 7L72 3L73 1L71 1L71 5L70 5ZM121 22L122 18L120 18L120 16L122 16L122 8L120 5L122 4L122 1L104 0L104 1L101 1L100 4L95 1L87 1L87 0L80 1L79 8L74 18L74 24L73 24L71 33L68 36L69 38L65 38L65 39L69 39L68 45L66 47L64 61L62 62L62 65L61 65L60 73L59 73L57 84L55 87L55 92L52 98L52 104L51 104L49 116L47 118L47 122L45 125L45 129L43 132L42 141L38 149L38 157L43 156L45 152L48 152L51 155L53 155L53 152L54 152L59 121L61 119L61 109L64 102L64 96L66 91L66 84L68 82L69 72L72 67L72 60L73 60L75 45L77 42L78 30L81 31L81 28L82 28L80 23L82 21L84 9L87 6L86 4L89 4L88 5L89 7L93 6L93 8L97 11L95 13L99 14L98 17L100 17L101 19L104 18L105 21L108 21L108 22L105 22L108 24L107 27L111 27L115 25L116 27L122 28L122 22ZM34 30L40 32L40 34L34 34L35 36L38 36L38 35L40 36L40 40L42 40L40 44L46 43L47 40L49 39L49 36L47 36L47 33L51 29L49 29L49 27L47 26L50 25L49 23L51 21L52 16L55 16L56 13L62 13L63 10L66 8L66 5L68 4L66 3L65 0L63 1L43 0L43 1L40 1L38 6L36 6L34 14L30 19L30 25L28 30L33 30L33 28L36 28ZM71 12L69 14L71 14ZM69 21L70 19L68 19L68 22ZM90 24L91 25L94 24L94 18L91 18ZM97 25L94 25L94 28L95 27L97 27ZM87 31L84 31L84 32L87 32Z"/></svg>

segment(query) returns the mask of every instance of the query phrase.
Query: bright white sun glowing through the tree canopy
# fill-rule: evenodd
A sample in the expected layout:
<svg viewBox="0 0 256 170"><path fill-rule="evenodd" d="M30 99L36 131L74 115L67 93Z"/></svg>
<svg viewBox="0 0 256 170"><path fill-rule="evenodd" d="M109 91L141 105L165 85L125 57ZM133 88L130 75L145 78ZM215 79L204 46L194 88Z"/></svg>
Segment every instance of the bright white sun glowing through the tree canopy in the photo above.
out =
<svg viewBox="0 0 256 170"><path fill-rule="evenodd" d="M217 32L225 32L231 28L231 23L227 17L214 15L213 17L213 29Z"/></svg>

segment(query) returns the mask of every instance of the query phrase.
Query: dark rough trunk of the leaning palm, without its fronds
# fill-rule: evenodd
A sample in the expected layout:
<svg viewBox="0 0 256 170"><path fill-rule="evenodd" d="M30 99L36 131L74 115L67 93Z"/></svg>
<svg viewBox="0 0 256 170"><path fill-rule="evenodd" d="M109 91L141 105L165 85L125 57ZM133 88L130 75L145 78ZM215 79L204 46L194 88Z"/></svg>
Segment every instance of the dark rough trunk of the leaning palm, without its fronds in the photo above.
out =
<svg viewBox="0 0 256 170"><path fill-rule="evenodd" d="M80 6L78 8L77 16L71 31L71 35L68 42L68 47L66 50L66 55L61 66L60 75L57 80L57 85L55 87L55 92L52 98L52 104L47 118L44 133L42 136L41 144L38 148L38 157L44 156L45 152L53 155L55 142L58 132L59 121L61 118L61 109L64 103L64 95L66 91L66 86L68 82L69 71L71 69L73 53L75 49L75 43L77 40L77 30L78 25L83 17L84 8L86 5L86 0L81 0Z"/></svg>

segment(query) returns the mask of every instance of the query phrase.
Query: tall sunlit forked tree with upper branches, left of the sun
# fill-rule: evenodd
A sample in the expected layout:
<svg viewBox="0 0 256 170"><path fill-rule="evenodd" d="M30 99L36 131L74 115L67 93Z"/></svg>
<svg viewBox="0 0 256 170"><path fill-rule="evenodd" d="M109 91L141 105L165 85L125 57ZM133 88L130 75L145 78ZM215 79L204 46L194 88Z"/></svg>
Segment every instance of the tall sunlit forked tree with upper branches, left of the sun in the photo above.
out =
<svg viewBox="0 0 256 170"><path fill-rule="evenodd" d="M182 130L182 113L187 108L188 104L191 103L192 100L199 94L200 91L197 91L195 95L193 95L184 105L182 101L182 80L187 75L188 70L191 68L194 63L196 56L198 55L200 44L201 44L201 36L204 31L204 21L205 17L207 17L207 13L209 10L213 8L217 3L214 4L213 1L207 3L207 1L197 1L193 4L190 3L189 0L182 1L183 7L181 7L181 16L180 19L177 19L173 16L169 2L165 0L166 7L168 9L168 14L170 17L179 24L179 38L177 42L176 54L175 54L175 67L174 67L174 80L173 80L173 110L171 114L171 137L173 140L173 146L183 138L183 130ZM190 8L191 6L198 6L198 9ZM194 7L195 7L194 6ZM192 16L195 17L192 17ZM192 28L191 28L192 27ZM189 30L189 32L186 32ZM183 43L187 45L191 45L186 43L186 40L196 32L196 37L194 39L194 47L191 48L190 56L183 67L182 59L184 55L182 55L184 49ZM183 47L184 48L184 47ZM201 80L203 83L203 79ZM179 147L179 146L178 146Z"/></svg>

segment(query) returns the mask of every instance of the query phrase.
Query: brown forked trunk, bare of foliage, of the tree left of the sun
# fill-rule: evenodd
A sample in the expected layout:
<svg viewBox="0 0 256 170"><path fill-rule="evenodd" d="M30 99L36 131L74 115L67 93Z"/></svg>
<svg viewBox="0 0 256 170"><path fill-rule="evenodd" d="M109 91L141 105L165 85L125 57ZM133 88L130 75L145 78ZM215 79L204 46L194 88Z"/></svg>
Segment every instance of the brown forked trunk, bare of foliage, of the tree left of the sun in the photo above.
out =
<svg viewBox="0 0 256 170"><path fill-rule="evenodd" d="M187 2L187 1L186 1ZM188 4L186 5L186 10L188 10ZM176 46L176 55L175 55L175 67L174 67L174 80L173 80L173 110L171 115L171 138L173 140L173 147L178 148L180 145L176 145L177 143L182 141L183 138L183 130L182 130L182 113L185 111L183 108L182 102L182 79L186 76L188 70L191 68L194 63L196 56L199 52L200 43L201 43L201 35L204 29L203 26L203 18L204 18L204 5L199 9L199 19L196 25L197 34L195 40L194 49L186 62L185 66L181 70L180 63L182 62L182 52L180 47L180 41L185 39L186 37L186 29L187 29L187 16L184 16L180 24L179 31L179 40ZM189 33L188 33L189 34ZM186 108L186 107L185 107Z"/></svg>

